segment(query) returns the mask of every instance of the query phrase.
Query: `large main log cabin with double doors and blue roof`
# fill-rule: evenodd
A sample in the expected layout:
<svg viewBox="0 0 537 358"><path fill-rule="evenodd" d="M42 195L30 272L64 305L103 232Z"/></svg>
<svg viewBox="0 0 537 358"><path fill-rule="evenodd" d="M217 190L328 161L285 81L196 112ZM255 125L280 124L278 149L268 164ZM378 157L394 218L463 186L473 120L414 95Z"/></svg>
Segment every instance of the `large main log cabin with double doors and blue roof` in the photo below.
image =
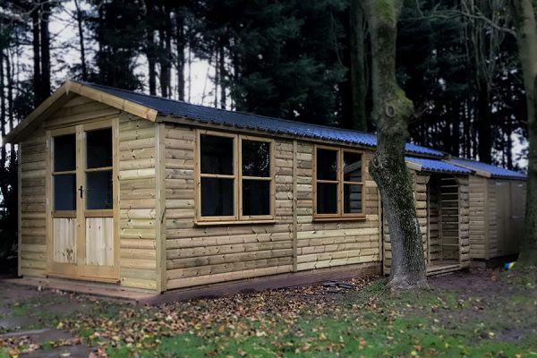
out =
<svg viewBox="0 0 537 358"><path fill-rule="evenodd" d="M164 292L380 272L372 134L66 81L4 141L20 149L21 276Z"/></svg>

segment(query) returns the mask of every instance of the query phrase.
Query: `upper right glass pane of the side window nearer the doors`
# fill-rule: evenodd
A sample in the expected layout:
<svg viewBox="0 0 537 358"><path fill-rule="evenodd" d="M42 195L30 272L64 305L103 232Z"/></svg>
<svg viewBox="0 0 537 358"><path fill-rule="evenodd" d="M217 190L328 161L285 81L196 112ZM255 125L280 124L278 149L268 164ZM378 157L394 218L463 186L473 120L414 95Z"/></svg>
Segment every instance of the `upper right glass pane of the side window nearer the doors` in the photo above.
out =
<svg viewBox="0 0 537 358"><path fill-rule="evenodd" d="M270 143L243 141L243 175L270 176Z"/></svg>

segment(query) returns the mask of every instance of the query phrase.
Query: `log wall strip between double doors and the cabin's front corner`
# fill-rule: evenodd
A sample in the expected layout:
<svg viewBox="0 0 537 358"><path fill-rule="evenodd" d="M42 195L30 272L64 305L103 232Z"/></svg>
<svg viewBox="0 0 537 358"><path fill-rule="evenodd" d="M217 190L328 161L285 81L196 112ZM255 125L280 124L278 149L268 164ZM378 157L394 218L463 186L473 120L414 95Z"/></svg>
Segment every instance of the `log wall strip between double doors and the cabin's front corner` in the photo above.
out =
<svg viewBox="0 0 537 358"><path fill-rule="evenodd" d="M119 233L122 286L160 290L158 125L119 115Z"/></svg>

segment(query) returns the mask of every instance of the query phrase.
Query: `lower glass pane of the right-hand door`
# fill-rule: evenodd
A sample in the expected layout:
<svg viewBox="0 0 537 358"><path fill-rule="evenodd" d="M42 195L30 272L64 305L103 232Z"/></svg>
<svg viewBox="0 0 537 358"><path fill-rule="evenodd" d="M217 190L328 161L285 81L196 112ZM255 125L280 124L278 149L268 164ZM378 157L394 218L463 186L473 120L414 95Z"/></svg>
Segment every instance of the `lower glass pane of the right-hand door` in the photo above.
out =
<svg viewBox="0 0 537 358"><path fill-rule="evenodd" d="M112 209L112 171L86 173L86 209Z"/></svg>

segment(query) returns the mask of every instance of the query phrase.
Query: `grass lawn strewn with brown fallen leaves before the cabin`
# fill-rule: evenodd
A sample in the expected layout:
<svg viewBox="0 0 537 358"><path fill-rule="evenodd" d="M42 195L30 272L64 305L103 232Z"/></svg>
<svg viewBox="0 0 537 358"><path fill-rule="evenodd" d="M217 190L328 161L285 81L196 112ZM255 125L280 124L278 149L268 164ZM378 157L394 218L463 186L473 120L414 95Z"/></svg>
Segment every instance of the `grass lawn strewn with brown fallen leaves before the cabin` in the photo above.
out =
<svg viewBox="0 0 537 358"><path fill-rule="evenodd" d="M501 275L435 277L422 292L377 279L159 307L103 300L47 323L109 357L537 357L537 290Z"/></svg>

